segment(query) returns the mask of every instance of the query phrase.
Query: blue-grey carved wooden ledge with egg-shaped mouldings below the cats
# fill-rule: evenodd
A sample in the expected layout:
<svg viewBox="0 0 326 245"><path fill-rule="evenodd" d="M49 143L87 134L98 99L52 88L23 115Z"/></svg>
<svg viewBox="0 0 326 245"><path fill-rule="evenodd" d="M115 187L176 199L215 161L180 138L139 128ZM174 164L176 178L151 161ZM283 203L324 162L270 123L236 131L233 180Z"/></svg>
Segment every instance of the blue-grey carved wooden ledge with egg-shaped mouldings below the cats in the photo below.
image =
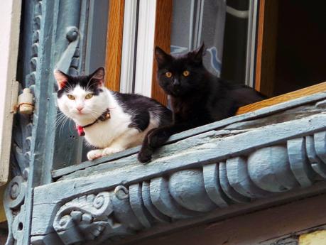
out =
<svg viewBox="0 0 326 245"><path fill-rule="evenodd" d="M36 187L32 244L110 244L182 220L217 219L219 210L272 205L314 186L325 191L326 114L315 102L302 113L309 107L291 109L287 119L274 114L277 122L254 119L181 138L148 165L131 155Z"/></svg>

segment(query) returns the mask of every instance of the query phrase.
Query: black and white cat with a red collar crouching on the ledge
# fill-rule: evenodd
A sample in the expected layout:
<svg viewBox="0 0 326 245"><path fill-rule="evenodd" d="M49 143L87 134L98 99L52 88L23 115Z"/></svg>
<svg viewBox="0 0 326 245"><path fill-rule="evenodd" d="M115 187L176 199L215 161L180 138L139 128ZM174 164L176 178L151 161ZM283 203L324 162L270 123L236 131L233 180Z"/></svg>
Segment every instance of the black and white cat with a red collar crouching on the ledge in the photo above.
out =
<svg viewBox="0 0 326 245"><path fill-rule="evenodd" d="M72 77L55 70L54 76L60 111L97 148L87 153L89 160L137 146L149 130L172 121L171 111L154 99L104 87L102 67L91 75Z"/></svg>

